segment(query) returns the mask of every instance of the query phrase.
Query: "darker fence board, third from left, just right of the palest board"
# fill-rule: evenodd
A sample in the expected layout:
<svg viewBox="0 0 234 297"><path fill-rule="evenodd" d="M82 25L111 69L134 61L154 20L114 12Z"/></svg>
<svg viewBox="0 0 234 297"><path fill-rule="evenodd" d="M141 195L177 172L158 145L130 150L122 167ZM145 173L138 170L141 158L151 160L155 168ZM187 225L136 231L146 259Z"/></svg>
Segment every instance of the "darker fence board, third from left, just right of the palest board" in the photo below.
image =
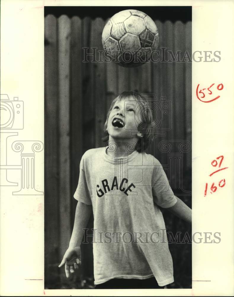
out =
<svg viewBox="0 0 234 297"><path fill-rule="evenodd" d="M81 19L71 19L70 43L70 144L71 144L71 223L73 225L76 200L73 194L76 190L79 177L79 163L83 153L83 117L82 117L82 49L81 49Z"/></svg>

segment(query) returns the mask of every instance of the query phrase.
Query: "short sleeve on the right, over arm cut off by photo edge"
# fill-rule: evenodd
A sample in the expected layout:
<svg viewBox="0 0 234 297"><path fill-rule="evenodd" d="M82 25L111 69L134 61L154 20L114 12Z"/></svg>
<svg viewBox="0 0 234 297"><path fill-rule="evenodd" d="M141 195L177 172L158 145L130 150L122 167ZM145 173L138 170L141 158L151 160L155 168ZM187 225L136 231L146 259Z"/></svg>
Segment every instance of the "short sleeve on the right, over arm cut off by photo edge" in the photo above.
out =
<svg viewBox="0 0 234 297"><path fill-rule="evenodd" d="M177 202L177 198L170 187L162 165L157 159L156 161L152 177L153 200L158 206L163 208L172 207Z"/></svg>

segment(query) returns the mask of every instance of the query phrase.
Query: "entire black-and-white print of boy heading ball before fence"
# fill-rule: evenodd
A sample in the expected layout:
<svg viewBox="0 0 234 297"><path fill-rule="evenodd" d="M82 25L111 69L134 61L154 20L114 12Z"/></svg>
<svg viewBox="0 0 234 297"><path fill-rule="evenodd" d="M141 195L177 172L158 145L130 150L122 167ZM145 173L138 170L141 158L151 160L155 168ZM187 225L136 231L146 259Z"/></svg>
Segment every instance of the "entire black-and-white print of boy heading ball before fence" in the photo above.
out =
<svg viewBox="0 0 234 297"><path fill-rule="evenodd" d="M45 288L191 288L191 6L44 13Z"/></svg>

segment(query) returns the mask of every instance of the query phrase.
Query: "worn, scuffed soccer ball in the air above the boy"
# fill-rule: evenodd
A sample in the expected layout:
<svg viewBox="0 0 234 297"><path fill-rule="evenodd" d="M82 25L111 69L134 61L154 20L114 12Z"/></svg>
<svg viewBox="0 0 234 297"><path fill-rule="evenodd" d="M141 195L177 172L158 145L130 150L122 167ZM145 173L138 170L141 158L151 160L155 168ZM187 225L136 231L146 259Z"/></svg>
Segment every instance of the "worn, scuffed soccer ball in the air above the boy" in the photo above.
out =
<svg viewBox="0 0 234 297"><path fill-rule="evenodd" d="M102 45L112 61L136 67L149 61L159 43L158 29L144 12L123 10L111 17L102 31Z"/></svg>

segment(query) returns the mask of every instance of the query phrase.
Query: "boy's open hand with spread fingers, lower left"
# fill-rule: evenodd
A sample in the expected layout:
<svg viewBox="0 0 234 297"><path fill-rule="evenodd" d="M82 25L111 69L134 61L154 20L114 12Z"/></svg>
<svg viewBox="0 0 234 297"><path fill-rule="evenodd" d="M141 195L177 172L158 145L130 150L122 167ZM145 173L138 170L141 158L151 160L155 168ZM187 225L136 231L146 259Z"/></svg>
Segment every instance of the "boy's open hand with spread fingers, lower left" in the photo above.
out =
<svg viewBox="0 0 234 297"><path fill-rule="evenodd" d="M59 267L65 265L66 277L70 277L70 273L74 273L75 269L78 269L78 265L81 264L81 249L80 247L69 247L63 258Z"/></svg>

